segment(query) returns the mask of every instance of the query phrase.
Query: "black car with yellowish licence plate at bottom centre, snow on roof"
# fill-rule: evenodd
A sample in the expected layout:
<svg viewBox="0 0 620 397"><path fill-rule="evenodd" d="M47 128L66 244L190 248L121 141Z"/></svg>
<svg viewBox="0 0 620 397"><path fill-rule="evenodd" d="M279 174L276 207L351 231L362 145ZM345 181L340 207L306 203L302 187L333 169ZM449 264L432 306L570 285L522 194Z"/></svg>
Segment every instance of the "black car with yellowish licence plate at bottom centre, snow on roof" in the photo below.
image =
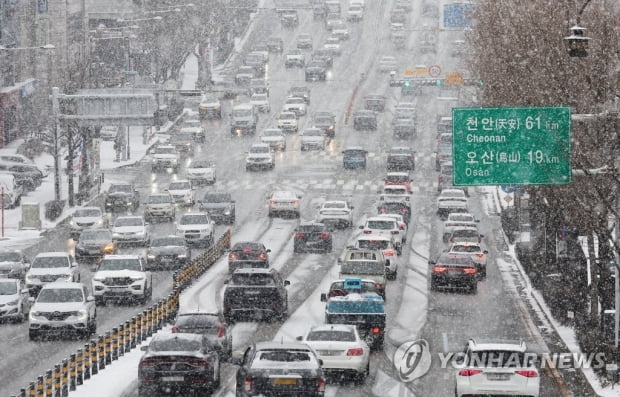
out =
<svg viewBox="0 0 620 397"><path fill-rule="evenodd" d="M305 343L260 342L243 353L236 376L236 396L323 397L321 362Z"/></svg>

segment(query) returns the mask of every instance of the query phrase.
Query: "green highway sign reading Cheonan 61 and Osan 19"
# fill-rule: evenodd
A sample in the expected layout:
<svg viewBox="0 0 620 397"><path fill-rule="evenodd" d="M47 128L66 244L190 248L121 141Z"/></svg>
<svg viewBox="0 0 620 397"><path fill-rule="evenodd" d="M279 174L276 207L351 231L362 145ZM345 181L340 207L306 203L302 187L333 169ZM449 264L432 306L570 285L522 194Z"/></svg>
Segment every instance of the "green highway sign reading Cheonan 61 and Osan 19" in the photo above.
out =
<svg viewBox="0 0 620 397"><path fill-rule="evenodd" d="M453 183L571 182L570 108L452 109Z"/></svg>

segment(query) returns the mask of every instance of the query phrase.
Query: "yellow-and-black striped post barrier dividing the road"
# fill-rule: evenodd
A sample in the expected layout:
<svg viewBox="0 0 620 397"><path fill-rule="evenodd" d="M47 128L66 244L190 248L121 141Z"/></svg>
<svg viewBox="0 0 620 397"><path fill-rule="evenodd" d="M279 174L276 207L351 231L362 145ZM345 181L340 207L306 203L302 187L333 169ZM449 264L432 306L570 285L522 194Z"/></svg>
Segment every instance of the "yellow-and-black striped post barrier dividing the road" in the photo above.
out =
<svg viewBox="0 0 620 397"><path fill-rule="evenodd" d="M231 234L231 229L228 229L202 255L176 271L172 276L172 292L167 298L160 299L118 327L91 339L82 349L69 354L68 358L48 369L45 375L39 375L27 388L12 397L66 397L84 381L157 333L166 323L171 323L179 310L181 292L230 248Z"/></svg>

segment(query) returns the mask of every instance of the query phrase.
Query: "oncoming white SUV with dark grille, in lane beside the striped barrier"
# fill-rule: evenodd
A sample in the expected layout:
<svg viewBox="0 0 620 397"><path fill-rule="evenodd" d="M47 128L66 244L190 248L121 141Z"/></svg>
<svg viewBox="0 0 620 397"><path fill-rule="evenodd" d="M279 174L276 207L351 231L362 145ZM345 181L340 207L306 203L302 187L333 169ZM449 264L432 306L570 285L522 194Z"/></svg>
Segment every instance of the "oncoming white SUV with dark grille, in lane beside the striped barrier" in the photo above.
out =
<svg viewBox="0 0 620 397"><path fill-rule="evenodd" d="M106 255L93 276L97 304L106 300L136 300L142 304L153 295L153 276L140 255Z"/></svg>

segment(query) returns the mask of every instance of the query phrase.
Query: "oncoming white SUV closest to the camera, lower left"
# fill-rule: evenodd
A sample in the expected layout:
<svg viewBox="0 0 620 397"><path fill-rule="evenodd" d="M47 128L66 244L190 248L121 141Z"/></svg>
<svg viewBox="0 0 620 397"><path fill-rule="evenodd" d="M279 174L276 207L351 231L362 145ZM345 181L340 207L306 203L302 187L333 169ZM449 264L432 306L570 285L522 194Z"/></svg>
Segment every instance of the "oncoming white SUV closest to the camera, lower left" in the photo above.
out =
<svg viewBox="0 0 620 397"><path fill-rule="evenodd" d="M75 333L88 338L97 331L95 298L82 283L58 281L30 298L28 335L31 340L43 333L64 336Z"/></svg>

